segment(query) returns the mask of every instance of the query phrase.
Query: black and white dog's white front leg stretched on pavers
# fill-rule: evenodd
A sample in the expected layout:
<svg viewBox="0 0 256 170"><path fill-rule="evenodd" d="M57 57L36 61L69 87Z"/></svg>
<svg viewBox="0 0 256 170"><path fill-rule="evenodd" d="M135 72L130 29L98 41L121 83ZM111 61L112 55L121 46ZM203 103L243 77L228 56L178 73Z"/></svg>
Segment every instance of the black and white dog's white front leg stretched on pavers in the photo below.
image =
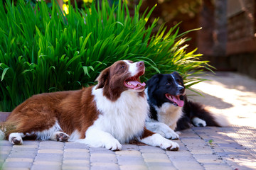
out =
<svg viewBox="0 0 256 170"><path fill-rule="evenodd" d="M178 139L178 134L174 132L168 125L159 122L146 122L146 129L151 130L152 132L159 133L167 139Z"/></svg>

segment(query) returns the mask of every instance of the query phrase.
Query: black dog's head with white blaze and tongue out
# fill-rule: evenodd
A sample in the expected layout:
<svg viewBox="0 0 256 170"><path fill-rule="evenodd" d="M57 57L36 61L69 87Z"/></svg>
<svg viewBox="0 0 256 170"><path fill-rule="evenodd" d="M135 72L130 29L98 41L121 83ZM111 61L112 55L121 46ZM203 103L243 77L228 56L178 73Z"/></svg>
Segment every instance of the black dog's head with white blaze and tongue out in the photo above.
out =
<svg viewBox="0 0 256 170"><path fill-rule="evenodd" d="M182 77L177 73L156 74L146 81L149 102L161 107L169 102L174 106L183 107L185 86Z"/></svg>

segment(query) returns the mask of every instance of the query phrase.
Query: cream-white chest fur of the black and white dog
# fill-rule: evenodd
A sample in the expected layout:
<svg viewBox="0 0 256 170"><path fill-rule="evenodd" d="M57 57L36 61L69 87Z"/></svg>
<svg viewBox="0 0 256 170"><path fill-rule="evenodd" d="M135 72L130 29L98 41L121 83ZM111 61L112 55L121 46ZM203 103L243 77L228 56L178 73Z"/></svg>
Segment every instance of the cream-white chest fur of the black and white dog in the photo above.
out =
<svg viewBox="0 0 256 170"><path fill-rule="evenodd" d="M183 115L182 107L174 106L171 103L164 103L160 108L157 106L154 108L158 113L159 122L169 125L172 130L176 128L178 119Z"/></svg>

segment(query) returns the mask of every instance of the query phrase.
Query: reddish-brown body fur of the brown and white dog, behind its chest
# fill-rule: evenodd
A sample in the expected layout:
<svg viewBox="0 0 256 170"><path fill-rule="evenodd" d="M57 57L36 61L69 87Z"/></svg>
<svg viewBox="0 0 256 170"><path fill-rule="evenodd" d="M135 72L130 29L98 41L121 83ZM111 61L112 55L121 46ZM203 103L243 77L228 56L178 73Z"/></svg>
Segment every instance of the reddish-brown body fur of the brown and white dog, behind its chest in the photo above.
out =
<svg viewBox="0 0 256 170"><path fill-rule="evenodd" d="M91 91L92 86L79 91L38 94L28 98L7 118L6 124L16 127L8 135L11 132L26 134L47 130L58 120L63 132L71 135L77 129L84 136L98 115Z"/></svg>

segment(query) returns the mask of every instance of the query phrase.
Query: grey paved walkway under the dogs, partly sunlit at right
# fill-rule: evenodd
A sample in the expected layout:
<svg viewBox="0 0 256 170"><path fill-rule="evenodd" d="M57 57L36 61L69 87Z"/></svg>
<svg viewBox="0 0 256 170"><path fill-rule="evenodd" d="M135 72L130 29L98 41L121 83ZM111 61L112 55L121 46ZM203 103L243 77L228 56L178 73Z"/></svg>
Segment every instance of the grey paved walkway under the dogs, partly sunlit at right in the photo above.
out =
<svg viewBox="0 0 256 170"><path fill-rule="evenodd" d="M4 140L2 169L256 169L256 81L233 73L208 79L213 81L193 86L206 97L193 99L223 114L230 126L183 130L176 140L181 146L177 152L146 145L123 145L122 151L112 152L53 141L12 146Z"/></svg>

